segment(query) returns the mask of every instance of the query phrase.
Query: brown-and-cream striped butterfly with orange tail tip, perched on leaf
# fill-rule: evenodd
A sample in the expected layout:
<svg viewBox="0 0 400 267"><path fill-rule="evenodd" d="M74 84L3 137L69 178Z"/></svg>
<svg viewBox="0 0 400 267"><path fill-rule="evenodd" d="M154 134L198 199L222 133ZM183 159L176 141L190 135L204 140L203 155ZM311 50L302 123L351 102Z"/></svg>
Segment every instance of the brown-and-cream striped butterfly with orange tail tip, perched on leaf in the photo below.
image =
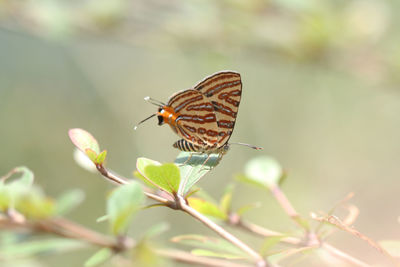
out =
<svg viewBox="0 0 400 267"><path fill-rule="evenodd" d="M146 97L146 101L159 108L157 113L138 125L157 116L158 125L168 124L182 138L173 147L181 151L223 155L229 149L228 141L235 126L241 96L240 74L220 71L204 78L193 88L173 94L166 104Z"/></svg>

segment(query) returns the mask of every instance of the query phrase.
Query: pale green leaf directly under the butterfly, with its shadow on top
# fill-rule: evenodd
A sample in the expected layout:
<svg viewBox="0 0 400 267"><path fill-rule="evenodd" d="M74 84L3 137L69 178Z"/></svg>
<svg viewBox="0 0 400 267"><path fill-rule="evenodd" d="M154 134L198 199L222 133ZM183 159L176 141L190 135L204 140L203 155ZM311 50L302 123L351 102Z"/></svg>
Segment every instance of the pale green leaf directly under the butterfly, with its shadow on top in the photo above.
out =
<svg viewBox="0 0 400 267"><path fill-rule="evenodd" d="M174 161L179 166L182 177L179 195L185 196L204 175L218 165L219 160L218 154L181 152Z"/></svg>

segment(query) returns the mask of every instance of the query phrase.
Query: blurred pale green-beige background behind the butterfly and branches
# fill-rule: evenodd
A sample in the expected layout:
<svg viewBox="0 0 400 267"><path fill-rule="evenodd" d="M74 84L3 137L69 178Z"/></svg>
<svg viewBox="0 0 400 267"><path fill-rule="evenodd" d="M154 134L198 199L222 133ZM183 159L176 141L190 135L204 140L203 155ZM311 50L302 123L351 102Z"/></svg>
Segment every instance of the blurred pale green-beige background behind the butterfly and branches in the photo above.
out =
<svg viewBox="0 0 400 267"><path fill-rule="evenodd" d="M107 165L132 177L137 157L178 154L177 136L156 119L133 131L156 109L143 97L166 101L230 69L244 85L231 140L264 150L232 147L200 186L218 198L247 160L271 155L303 215L354 192L355 227L374 240L399 239L399 12L400 2L380 0L0 1L0 174L26 165L54 197L81 188L86 199L70 218L106 232L95 220L113 186L74 162L68 129L94 134ZM234 205L253 202L262 206L249 220L295 229L271 196L238 186ZM171 225L167 245L174 234L211 234L156 208L141 213L132 235L162 220ZM386 263L347 233L330 241ZM46 256L39 266L79 266L92 252Z"/></svg>

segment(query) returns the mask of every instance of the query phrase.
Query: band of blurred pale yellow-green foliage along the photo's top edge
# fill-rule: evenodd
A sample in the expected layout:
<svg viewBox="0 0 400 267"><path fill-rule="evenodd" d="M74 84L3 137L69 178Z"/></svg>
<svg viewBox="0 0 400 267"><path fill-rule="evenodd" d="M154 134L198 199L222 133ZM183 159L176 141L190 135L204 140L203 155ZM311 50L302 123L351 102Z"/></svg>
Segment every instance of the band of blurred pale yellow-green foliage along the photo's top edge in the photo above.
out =
<svg viewBox="0 0 400 267"><path fill-rule="evenodd" d="M51 39L103 35L216 57L251 51L397 80L395 1L2 1L1 23ZM206 46L205 46L206 44Z"/></svg>

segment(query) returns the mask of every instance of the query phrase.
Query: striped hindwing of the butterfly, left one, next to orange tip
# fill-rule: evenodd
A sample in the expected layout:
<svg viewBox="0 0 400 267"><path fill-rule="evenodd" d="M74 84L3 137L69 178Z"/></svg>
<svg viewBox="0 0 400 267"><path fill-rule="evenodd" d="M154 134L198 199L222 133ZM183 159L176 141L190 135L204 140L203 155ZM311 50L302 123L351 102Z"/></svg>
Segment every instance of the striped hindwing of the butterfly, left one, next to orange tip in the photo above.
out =
<svg viewBox="0 0 400 267"><path fill-rule="evenodd" d="M183 90L172 95L167 105L177 115L174 130L179 136L205 150L217 146L217 118L205 95L195 89Z"/></svg>

